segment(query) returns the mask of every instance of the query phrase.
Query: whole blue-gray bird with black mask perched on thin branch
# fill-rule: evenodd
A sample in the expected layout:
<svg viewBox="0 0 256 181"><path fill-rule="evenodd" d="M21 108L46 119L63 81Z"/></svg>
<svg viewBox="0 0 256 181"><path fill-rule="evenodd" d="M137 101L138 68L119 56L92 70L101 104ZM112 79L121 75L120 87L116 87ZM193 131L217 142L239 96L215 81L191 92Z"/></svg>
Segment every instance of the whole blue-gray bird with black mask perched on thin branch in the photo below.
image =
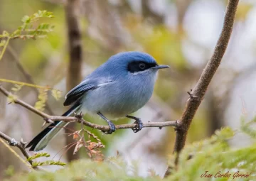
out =
<svg viewBox="0 0 256 181"><path fill-rule="evenodd" d="M127 117L135 120L137 127L133 131L136 133L142 129L142 121L129 114L149 101L158 70L167 67L158 65L154 57L147 53L124 52L113 55L68 92L64 106L72 106L63 116L80 111L83 114L97 114L107 121L110 129L106 133L109 134L115 131L110 119ZM31 151L42 150L67 124L55 121L33 138L26 148L31 147Z"/></svg>

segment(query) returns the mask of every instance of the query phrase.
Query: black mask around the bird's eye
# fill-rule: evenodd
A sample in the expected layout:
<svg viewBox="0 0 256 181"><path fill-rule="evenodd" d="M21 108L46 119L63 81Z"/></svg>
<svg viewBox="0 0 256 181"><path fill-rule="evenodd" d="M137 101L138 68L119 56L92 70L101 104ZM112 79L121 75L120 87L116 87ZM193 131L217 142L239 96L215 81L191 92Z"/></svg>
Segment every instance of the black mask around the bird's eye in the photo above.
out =
<svg viewBox="0 0 256 181"><path fill-rule="evenodd" d="M155 66L156 66L156 63L154 62L149 63L149 62L143 62L143 61L134 61L134 62L129 62L127 69L129 72L134 73L134 72L141 72Z"/></svg>

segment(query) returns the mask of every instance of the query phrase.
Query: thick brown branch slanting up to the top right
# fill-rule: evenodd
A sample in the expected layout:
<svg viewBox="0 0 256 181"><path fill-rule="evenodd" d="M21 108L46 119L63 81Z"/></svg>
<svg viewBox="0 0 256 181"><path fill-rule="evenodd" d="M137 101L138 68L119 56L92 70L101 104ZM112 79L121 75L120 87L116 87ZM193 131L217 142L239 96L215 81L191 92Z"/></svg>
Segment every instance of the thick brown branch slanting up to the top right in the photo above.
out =
<svg viewBox="0 0 256 181"><path fill-rule="evenodd" d="M225 50L230 40L230 35L233 29L233 23L235 21L235 12L238 6L239 0L229 0L228 6L225 12L225 19L223 29L218 39L218 43L215 46L214 53L208 61L205 69L203 70L200 79L198 80L196 87L191 92L191 98L188 99L186 109L183 111L181 119L178 120L180 126L176 128L176 141L174 146L174 152L180 153L185 146L186 136L188 128L191 125L191 121L196 114L198 106L201 104L208 85L210 84L213 75L218 69L220 62L223 58ZM177 154L178 155L178 154ZM176 158L176 164L178 163L178 156ZM169 175L169 169L166 171L165 177Z"/></svg>

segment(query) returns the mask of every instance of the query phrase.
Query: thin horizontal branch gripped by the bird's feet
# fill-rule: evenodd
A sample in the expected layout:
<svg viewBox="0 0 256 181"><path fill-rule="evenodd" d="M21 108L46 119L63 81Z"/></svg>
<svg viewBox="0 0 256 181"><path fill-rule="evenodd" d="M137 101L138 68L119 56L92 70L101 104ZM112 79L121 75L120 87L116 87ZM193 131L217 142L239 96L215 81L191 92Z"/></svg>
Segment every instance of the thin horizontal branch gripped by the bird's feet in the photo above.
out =
<svg viewBox="0 0 256 181"><path fill-rule="evenodd" d="M0 84L0 92L2 92L6 97L12 97L11 92L8 92L4 87ZM45 121L52 122L52 121L66 121L66 122L78 122L82 123L85 126L88 126L90 128L96 128L101 131L108 131L110 129L110 126L103 126L99 124L92 124L88 121L85 121L84 119L80 118L79 116L50 116L42 111L39 111L35 109L33 106L27 104L26 102L23 102L21 99L14 99L15 104L19 104L26 109L32 111L35 114L38 114L38 116L41 116ZM124 129L124 128L135 128L137 124L122 124L122 125L116 125L116 129ZM178 128L178 121L165 121L165 122L149 122L144 123L144 128L151 128L151 127L166 127L166 126L173 126Z"/></svg>

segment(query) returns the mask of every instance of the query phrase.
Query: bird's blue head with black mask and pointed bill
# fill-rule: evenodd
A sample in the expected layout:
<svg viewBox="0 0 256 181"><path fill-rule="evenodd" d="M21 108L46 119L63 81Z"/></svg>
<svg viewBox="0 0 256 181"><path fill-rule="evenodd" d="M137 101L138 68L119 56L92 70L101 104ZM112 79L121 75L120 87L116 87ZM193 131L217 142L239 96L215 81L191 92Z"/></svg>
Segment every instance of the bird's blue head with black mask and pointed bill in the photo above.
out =
<svg viewBox="0 0 256 181"><path fill-rule="evenodd" d="M159 69L168 68L168 65L158 65L154 57L142 52L117 53L107 61L109 67L123 70L132 75L156 73Z"/></svg>

